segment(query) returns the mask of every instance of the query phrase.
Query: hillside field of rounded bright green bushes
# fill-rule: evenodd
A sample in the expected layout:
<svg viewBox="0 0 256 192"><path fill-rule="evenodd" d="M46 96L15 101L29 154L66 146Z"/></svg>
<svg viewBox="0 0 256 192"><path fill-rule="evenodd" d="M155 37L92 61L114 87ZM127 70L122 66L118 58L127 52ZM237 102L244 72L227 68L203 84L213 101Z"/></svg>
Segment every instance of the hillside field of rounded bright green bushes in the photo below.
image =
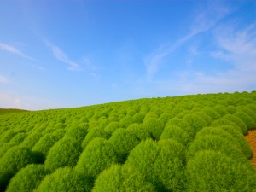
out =
<svg viewBox="0 0 256 192"><path fill-rule="evenodd" d="M256 191L256 91L0 115L0 191Z"/></svg>

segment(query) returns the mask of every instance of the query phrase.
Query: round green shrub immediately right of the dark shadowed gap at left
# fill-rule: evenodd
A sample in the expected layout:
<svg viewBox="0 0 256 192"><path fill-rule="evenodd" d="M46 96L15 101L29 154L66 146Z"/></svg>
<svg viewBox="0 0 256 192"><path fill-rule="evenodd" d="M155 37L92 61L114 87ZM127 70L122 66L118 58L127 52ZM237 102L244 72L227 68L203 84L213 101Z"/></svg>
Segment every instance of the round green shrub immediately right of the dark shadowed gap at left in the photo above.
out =
<svg viewBox="0 0 256 192"><path fill-rule="evenodd" d="M50 172L64 166L75 166L82 149L80 143L72 137L63 137L49 149L44 162Z"/></svg>

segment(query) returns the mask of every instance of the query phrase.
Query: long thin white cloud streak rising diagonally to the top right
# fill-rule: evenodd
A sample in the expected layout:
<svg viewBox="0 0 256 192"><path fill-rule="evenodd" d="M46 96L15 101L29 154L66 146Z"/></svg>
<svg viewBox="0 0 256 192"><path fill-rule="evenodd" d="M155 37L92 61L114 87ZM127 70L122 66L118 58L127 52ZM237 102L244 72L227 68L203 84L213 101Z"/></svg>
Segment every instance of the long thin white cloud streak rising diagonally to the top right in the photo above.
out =
<svg viewBox="0 0 256 192"><path fill-rule="evenodd" d="M154 74L157 73L161 61L166 58L166 56L171 55L176 49L187 43L189 39L194 38L202 32L210 30L219 20L222 20L224 16L229 13L230 9L219 3L212 3L211 1L206 9L203 9L196 14L194 23L191 26L191 31L187 35L177 39L174 44L164 47L160 46L160 48L154 50L153 53L143 59L148 79L151 79Z"/></svg>

